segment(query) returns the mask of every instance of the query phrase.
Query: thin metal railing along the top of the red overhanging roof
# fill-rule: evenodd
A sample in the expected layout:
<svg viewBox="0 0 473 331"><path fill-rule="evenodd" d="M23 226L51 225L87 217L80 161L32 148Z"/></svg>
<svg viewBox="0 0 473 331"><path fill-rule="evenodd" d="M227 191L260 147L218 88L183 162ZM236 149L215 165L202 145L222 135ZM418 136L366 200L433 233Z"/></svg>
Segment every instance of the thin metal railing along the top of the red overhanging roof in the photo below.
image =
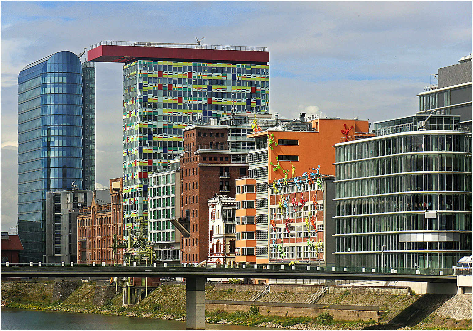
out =
<svg viewBox="0 0 473 331"><path fill-rule="evenodd" d="M195 49L220 49L229 51L257 51L267 52L267 47L254 47L254 46L230 46L230 45L197 45L197 44L174 44L174 43L147 43L140 41L111 41L104 40L100 43L92 45L88 48L88 51L101 45L114 45L114 46L142 46L142 47L166 47L166 48L195 48Z"/></svg>

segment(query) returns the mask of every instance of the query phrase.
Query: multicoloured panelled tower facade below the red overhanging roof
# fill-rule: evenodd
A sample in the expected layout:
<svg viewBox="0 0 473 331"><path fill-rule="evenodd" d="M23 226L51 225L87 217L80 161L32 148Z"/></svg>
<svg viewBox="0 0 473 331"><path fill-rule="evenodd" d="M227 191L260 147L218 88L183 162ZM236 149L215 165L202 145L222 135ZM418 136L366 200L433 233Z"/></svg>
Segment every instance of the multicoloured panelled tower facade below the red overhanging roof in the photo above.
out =
<svg viewBox="0 0 473 331"><path fill-rule="evenodd" d="M269 113L269 65L135 61L123 67L124 223L148 218L148 171L183 152L186 125Z"/></svg>

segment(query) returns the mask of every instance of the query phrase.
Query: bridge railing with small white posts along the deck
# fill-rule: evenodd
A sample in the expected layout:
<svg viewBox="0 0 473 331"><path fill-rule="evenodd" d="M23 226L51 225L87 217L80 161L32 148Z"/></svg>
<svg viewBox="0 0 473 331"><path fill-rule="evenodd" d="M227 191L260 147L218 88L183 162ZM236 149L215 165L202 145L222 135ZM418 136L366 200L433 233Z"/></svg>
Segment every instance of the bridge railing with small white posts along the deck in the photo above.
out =
<svg viewBox="0 0 473 331"><path fill-rule="evenodd" d="M37 267L39 263L9 263L9 266L15 267L15 266L35 266ZM70 266L70 263L42 263L40 266L41 267L58 267L58 266ZM2 267L6 267L6 263L1 263ZM117 264L117 263L102 263L102 262L96 262L94 263L74 263L73 266L80 266L80 267L113 267L113 266L123 266L123 264ZM308 263L295 263L294 265L289 266L288 264L238 264L238 265L231 265L231 264L219 264L219 265L214 265L214 266L208 266L205 267L203 266L198 266L197 263L179 263L179 261L170 261L170 262L163 262L163 261L157 261L157 262L151 262L151 263L137 263L136 265L131 264L130 266L127 265L127 267L167 267L167 268L207 268L207 269L214 269L214 268L247 268L247 269L272 269L272 270L285 270L285 271L306 271L306 272L336 272L336 273L377 273L377 274L403 274L403 275L456 275L456 270L454 268L380 268L380 267L326 267L326 266L317 266L317 265L310 265ZM210 271L209 270L209 271ZM210 271L211 273L211 271Z"/></svg>

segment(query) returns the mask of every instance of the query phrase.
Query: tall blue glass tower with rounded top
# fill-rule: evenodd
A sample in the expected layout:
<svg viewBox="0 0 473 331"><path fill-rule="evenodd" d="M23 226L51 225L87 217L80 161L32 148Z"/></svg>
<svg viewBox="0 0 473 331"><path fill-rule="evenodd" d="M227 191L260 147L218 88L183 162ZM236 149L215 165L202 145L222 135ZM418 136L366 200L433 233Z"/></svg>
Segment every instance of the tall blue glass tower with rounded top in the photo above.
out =
<svg viewBox="0 0 473 331"><path fill-rule="evenodd" d="M25 248L20 263L41 261L45 254L46 192L73 182L82 189L82 118L76 54L58 52L19 73L18 234Z"/></svg>

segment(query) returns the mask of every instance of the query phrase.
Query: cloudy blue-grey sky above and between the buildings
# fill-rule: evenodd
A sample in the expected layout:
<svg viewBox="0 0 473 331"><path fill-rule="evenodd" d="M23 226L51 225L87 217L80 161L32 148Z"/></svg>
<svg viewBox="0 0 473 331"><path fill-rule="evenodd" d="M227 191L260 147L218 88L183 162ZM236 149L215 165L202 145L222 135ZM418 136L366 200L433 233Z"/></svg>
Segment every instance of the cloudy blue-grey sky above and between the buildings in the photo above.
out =
<svg viewBox="0 0 473 331"><path fill-rule="evenodd" d="M18 216L20 70L102 40L195 37L267 47L280 118L372 123L415 113L431 75L472 52L472 2L1 1L1 231L15 232ZM96 187L122 176L121 155L122 64L96 63Z"/></svg>

